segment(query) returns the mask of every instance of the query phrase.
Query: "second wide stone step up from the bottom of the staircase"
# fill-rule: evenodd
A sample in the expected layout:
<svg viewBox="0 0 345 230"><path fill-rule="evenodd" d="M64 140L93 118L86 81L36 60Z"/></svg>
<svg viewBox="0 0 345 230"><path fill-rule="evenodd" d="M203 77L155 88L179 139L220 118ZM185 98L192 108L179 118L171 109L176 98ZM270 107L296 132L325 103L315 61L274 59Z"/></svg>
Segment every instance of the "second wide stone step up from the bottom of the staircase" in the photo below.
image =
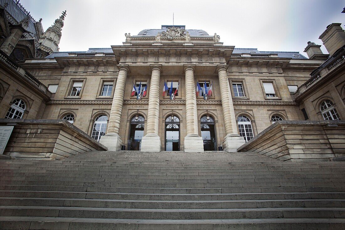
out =
<svg viewBox="0 0 345 230"><path fill-rule="evenodd" d="M0 206L0 215L170 220L343 218L345 216L345 208L120 209L89 207Z"/></svg>

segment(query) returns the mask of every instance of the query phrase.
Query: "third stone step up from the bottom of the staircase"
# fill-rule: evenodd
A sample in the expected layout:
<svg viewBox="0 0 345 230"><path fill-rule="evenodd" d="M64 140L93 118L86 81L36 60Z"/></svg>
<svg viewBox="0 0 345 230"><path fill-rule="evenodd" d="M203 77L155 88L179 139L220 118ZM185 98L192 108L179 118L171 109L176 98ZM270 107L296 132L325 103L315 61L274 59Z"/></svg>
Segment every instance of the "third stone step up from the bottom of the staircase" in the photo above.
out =
<svg viewBox="0 0 345 230"><path fill-rule="evenodd" d="M245 209L245 208L344 208L345 199L241 200L241 201L155 201L67 198L0 197L0 205L61 206L126 209Z"/></svg>

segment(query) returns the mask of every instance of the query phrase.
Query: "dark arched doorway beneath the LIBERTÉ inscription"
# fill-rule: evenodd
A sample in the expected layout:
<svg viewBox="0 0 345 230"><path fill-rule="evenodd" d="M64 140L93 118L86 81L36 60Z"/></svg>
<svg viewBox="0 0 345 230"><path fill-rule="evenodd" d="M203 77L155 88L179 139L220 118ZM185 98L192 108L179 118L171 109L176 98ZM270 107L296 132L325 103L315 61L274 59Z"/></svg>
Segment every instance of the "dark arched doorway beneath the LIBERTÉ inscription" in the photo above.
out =
<svg viewBox="0 0 345 230"><path fill-rule="evenodd" d="M144 136L145 118L139 114L132 117L129 125L128 150L140 151Z"/></svg>

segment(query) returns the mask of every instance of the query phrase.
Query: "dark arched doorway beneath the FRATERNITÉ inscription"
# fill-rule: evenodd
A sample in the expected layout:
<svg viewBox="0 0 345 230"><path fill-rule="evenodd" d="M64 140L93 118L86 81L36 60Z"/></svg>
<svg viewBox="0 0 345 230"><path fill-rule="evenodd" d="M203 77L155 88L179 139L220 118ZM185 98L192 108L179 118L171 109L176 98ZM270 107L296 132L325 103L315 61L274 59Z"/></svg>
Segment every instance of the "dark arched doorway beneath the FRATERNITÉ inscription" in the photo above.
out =
<svg viewBox="0 0 345 230"><path fill-rule="evenodd" d="M206 114L201 117L201 137L204 141L204 151L217 151L215 120Z"/></svg>

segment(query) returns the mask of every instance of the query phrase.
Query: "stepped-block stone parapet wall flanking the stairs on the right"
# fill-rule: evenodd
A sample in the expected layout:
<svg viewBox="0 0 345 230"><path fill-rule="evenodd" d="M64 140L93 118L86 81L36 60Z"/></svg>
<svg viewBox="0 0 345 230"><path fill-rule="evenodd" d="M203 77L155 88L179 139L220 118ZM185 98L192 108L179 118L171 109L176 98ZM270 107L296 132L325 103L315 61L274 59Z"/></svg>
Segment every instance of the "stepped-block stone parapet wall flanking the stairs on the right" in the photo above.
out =
<svg viewBox="0 0 345 230"><path fill-rule="evenodd" d="M345 155L345 121L279 121L237 151L282 161L327 161Z"/></svg>

